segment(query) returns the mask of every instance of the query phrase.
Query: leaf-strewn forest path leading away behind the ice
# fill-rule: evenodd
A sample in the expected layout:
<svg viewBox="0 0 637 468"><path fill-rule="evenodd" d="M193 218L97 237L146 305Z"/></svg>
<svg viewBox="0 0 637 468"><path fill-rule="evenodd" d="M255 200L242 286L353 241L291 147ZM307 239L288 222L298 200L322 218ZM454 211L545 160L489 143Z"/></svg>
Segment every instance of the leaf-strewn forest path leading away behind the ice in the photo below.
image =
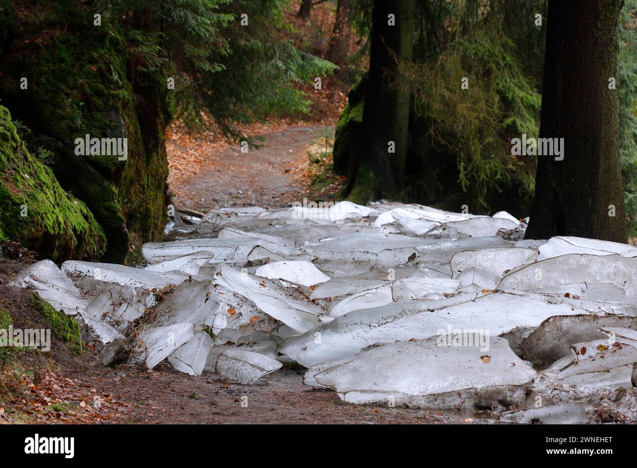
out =
<svg viewBox="0 0 637 468"><path fill-rule="evenodd" d="M259 150L169 139L169 185L178 208L206 212L225 206L278 208L300 201L307 187L301 177L308 149L326 127L290 127L269 132Z"/></svg>

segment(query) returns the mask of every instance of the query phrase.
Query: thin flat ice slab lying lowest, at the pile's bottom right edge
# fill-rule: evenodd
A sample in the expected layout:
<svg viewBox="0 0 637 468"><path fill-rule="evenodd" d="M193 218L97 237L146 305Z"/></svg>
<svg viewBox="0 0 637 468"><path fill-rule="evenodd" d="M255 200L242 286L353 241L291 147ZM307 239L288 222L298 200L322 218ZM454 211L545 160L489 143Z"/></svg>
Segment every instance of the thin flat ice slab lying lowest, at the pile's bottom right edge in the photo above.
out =
<svg viewBox="0 0 637 468"><path fill-rule="evenodd" d="M586 424L592 419L592 405L566 403L502 413L499 421L515 424Z"/></svg>

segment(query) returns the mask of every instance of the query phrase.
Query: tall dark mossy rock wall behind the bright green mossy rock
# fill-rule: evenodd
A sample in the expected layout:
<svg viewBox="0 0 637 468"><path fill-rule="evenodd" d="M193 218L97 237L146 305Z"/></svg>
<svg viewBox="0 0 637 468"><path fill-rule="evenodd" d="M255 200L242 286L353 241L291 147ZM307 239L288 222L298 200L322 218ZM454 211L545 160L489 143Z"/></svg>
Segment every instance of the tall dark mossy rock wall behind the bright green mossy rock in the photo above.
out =
<svg viewBox="0 0 637 468"><path fill-rule="evenodd" d="M94 25L93 13L81 2L45 0L32 11L40 21L20 17L19 34L7 35L10 52L0 59L0 97L38 145L54 153L60 185L103 228L108 243L101 260L124 262L141 243L162 236L168 91L165 76L131 55L120 27L106 17ZM27 89L19 86L23 76ZM127 159L77 155L75 141L87 134L127 138Z"/></svg>

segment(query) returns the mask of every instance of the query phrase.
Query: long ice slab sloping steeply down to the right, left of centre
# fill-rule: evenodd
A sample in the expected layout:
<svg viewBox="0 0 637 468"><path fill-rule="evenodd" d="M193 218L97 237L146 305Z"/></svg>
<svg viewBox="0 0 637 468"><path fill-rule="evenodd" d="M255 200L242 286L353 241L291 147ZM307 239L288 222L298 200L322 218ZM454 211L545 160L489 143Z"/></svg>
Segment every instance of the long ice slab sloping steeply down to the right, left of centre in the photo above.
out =
<svg viewBox="0 0 637 468"><path fill-rule="evenodd" d="M269 316L281 320L297 332L306 332L327 317L321 308L294 299L291 293L272 280L257 278L227 265L220 265L215 273L215 283L241 294Z"/></svg>

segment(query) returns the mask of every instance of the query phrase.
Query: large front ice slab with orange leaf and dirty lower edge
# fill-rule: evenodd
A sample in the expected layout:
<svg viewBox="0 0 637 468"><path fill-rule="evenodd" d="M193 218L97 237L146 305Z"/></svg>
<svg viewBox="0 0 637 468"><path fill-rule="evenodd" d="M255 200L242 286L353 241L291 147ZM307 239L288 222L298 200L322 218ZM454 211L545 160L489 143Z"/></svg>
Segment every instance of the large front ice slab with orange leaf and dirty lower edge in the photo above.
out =
<svg viewBox="0 0 637 468"><path fill-rule="evenodd" d="M452 342L452 337L443 337L443 343ZM441 345L433 336L371 347L314 379L355 404L391 402L432 409L524 404L536 372L513 353L506 339L491 337L488 351L475 346L481 337L471 334L467 339L462 346Z"/></svg>

